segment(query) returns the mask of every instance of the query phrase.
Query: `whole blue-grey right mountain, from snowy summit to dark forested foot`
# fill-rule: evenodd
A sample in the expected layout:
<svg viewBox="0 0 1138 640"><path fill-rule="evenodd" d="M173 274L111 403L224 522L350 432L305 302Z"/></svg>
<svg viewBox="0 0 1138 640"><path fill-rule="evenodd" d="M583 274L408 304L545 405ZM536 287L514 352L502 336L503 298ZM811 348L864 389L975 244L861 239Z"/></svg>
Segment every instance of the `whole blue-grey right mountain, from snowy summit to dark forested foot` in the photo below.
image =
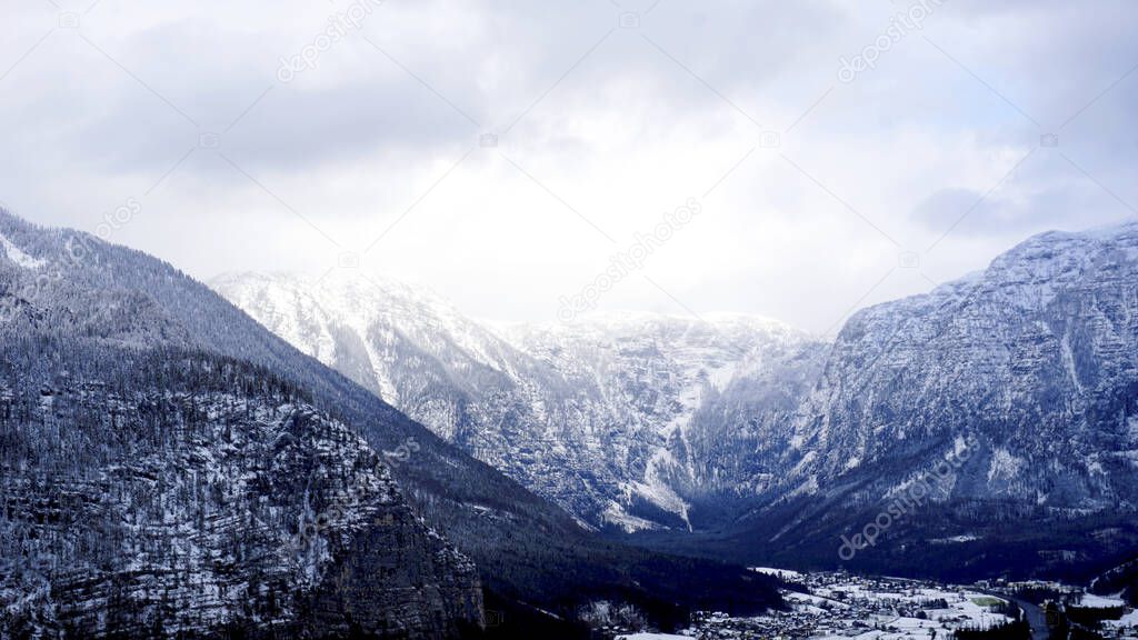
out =
<svg viewBox="0 0 1138 640"><path fill-rule="evenodd" d="M775 440L786 479L726 536L742 555L976 575L1138 548L1138 223L858 312Z"/></svg>

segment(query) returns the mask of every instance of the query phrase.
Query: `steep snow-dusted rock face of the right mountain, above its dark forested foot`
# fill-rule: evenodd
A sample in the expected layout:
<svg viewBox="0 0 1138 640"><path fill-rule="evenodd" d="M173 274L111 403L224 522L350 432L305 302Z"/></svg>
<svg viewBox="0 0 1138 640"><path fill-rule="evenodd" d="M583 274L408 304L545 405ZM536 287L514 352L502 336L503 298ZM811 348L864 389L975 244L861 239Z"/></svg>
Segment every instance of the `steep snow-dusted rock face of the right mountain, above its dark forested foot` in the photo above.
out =
<svg viewBox="0 0 1138 640"><path fill-rule="evenodd" d="M1046 233L842 329L789 434L792 482L976 446L956 498L1133 508L1138 224Z"/></svg>

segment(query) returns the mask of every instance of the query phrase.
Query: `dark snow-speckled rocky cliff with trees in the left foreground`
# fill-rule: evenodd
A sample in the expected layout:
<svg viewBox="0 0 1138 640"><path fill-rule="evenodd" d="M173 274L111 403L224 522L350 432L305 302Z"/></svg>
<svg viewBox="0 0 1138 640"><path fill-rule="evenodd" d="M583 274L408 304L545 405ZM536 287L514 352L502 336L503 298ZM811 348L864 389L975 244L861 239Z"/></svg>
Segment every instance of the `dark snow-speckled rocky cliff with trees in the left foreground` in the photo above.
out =
<svg viewBox="0 0 1138 640"><path fill-rule="evenodd" d="M483 624L473 564L299 389L203 354L47 338L3 351L0 634L450 638ZM66 374L36 380L44 358Z"/></svg>

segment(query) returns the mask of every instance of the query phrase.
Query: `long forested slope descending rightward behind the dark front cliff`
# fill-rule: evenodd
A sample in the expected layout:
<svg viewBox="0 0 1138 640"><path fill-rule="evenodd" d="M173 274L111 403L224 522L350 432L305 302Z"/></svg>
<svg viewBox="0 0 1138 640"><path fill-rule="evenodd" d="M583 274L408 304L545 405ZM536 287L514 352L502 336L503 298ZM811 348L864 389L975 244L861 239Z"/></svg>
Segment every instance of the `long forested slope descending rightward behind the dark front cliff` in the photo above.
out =
<svg viewBox="0 0 1138 640"><path fill-rule="evenodd" d="M723 606L729 599L737 610L780 601L770 581L739 567L597 539L564 511L160 261L83 233L36 228L7 213L0 213L0 235L19 252L13 259L6 245L0 259L0 319L13 335L61 331L137 348L176 347L272 371L384 453L409 506L475 560L495 606L539 607L571 617L578 606L603 597L637 601L653 617L675 618L707 594ZM685 572L693 577L682 581Z"/></svg>

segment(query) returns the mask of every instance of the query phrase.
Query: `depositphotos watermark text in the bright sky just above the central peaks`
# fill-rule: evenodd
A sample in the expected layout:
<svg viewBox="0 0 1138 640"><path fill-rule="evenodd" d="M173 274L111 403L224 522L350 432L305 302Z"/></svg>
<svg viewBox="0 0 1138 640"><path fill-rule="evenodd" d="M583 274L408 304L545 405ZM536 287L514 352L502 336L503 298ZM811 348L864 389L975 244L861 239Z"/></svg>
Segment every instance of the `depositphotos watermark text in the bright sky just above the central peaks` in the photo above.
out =
<svg viewBox="0 0 1138 640"><path fill-rule="evenodd" d="M568 322L580 313L596 309L597 301L629 274L644 266L644 262L658 248L663 246L677 231L686 227L703 211L703 205L695 198L687 198L676 211L663 214L663 219L651 233L640 231L633 236L633 244L625 251L609 259L609 266L597 273L593 281L582 287L572 296L561 296L558 307L558 320Z"/></svg>

